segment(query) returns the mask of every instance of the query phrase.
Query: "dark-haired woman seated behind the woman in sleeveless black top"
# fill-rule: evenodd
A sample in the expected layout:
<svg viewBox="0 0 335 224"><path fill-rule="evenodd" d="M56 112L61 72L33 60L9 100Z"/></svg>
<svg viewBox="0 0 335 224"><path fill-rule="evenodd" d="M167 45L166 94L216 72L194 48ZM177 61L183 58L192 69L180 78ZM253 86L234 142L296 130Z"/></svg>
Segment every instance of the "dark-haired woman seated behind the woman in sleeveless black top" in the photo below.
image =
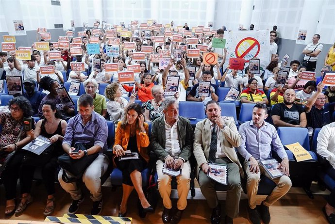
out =
<svg viewBox="0 0 335 224"><path fill-rule="evenodd" d="M57 94L57 89L59 88L59 83L56 80L51 79L49 76L43 77L39 83L40 87L44 90L49 91L50 93L45 96L38 108L38 116L43 117L42 105L45 101L51 100L56 104L57 111L59 111L65 120L68 120L74 115L74 107L67 106L62 103L61 98Z"/></svg>

